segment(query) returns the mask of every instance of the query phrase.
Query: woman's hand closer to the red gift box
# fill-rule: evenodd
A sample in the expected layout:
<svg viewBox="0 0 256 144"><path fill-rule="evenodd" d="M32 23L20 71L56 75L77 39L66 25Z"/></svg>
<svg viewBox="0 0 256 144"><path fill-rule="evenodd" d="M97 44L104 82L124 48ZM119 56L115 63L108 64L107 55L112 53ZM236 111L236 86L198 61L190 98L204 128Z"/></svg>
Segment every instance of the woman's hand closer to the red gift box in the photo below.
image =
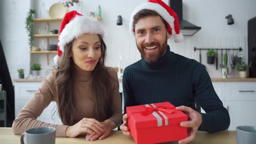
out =
<svg viewBox="0 0 256 144"><path fill-rule="evenodd" d="M86 134L87 141L95 141L96 139L103 140L109 136L112 130L115 128L115 123L110 120L106 120L101 123L103 125L103 131L100 134Z"/></svg>

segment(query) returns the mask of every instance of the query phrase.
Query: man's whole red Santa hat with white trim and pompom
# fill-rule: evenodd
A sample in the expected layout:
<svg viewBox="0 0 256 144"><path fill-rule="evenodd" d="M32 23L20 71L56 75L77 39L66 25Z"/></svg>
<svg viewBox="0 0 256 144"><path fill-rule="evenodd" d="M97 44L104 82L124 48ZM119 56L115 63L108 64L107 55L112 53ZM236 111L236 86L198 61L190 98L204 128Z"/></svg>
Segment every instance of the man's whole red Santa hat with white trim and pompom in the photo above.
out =
<svg viewBox="0 0 256 144"><path fill-rule="evenodd" d="M133 17L140 10L148 9L156 11L166 22L167 30L170 32L171 36L174 36L174 42L179 43L184 39L182 33L180 33L180 25L177 14L167 6L162 0L148 0L145 3L141 3L131 14L129 30L131 34L135 34L135 29L133 27Z"/></svg>

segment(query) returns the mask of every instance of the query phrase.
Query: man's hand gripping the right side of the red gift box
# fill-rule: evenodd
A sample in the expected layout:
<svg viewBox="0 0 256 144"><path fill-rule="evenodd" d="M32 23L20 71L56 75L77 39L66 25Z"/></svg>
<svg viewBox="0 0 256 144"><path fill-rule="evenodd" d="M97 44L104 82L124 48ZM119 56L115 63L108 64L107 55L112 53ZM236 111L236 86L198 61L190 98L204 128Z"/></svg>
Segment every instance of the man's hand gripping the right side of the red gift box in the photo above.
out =
<svg viewBox="0 0 256 144"><path fill-rule="evenodd" d="M184 105L182 105L180 107L176 107L176 109L179 111L184 111L187 114L188 119L189 119L189 121L181 122L182 127L187 127L188 137L183 140L180 140L179 144L187 144L191 141L194 141L194 139L196 137L197 130L202 123L202 115L200 113L198 113L197 111L194 111L192 108L186 107Z"/></svg>

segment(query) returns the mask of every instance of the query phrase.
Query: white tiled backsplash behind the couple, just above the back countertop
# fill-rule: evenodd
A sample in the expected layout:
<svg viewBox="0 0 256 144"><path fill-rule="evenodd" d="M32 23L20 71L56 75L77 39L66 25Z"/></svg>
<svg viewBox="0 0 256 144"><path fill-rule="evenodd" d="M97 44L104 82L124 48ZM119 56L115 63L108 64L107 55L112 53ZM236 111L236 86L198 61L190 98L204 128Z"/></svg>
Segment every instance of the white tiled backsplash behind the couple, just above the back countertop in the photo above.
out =
<svg viewBox="0 0 256 144"><path fill-rule="evenodd" d="M118 67L118 56L122 56L121 67L124 69L126 66L131 65L141 59L141 55L138 52L135 44L135 37L129 34L125 36L110 36L107 35L104 38L107 45L107 60L106 65L112 67ZM199 61L199 50L194 52L194 46L198 48L239 48L243 51L240 53L243 55L243 60L247 62L247 38L246 36L205 36L197 37L186 36L181 43L174 43L173 39L168 40L168 44L172 52L180 54L190 59L196 59ZM223 51L224 53L225 51ZM239 51L234 51L234 54ZM207 64L207 51L202 50L202 63L206 65L207 71L211 77L220 77L220 69L216 70L216 63L213 65ZM233 54L233 50L230 50ZM46 71L53 69L53 57L55 54L49 54L49 65L46 64L46 55L31 55L31 62L39 62L42 64L43 69L41 75L46 75ZM220 65L220 50L218 50L218 65ZM49 72L47 72L48 74ZM228 77L238 77L237 71L230 68L230 75Z"/></svg>

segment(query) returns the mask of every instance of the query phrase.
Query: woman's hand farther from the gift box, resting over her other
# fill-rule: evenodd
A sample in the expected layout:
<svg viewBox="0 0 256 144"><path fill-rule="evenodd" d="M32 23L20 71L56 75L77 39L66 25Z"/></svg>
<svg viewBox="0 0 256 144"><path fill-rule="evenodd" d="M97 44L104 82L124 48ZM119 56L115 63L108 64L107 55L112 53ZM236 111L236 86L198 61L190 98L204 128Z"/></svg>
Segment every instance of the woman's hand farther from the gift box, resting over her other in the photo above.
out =
<svg viewBox="0 0 256 144"><path fill-rule="evenodd" d="M103 124L94 118L83 118L75 125L69 126L66 129L66 137L76 137L82 133L101 134Z"/></svg>

